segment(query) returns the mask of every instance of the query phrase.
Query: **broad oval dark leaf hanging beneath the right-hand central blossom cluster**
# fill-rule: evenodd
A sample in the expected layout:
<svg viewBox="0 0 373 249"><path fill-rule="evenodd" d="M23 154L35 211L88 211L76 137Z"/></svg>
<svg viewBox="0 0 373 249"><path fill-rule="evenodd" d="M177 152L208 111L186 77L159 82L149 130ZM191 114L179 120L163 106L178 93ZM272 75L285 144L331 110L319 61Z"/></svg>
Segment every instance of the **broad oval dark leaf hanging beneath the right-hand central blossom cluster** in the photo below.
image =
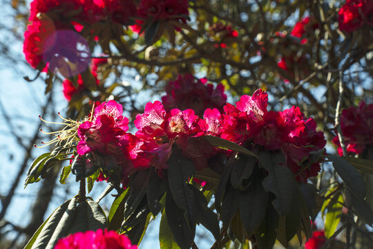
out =
<svg viewBox="0 0 373 249"><path fill-rule="evenodd" d="M259 227L265 216L268 193L257 180L245 192L240 192L239 200L242 223L247 234L251 234Z"/></svg>

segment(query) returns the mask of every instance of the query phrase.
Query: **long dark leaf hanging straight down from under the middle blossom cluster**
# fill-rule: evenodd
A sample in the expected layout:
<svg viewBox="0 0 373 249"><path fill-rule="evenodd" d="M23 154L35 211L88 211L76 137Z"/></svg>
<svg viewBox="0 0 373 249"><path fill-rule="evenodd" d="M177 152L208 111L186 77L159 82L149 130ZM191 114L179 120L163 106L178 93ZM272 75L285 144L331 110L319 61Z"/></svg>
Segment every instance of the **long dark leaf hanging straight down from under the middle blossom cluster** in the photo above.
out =
<svg viewBox="0 0 373 249"><path fill-rule="evenodd" d="M187 222L192 225L195 216L195 200L189 181L195 172L193 160L182 156L182 151L174 148L168 164L167 176L171 194L178 208L187 211Z"/></svg>

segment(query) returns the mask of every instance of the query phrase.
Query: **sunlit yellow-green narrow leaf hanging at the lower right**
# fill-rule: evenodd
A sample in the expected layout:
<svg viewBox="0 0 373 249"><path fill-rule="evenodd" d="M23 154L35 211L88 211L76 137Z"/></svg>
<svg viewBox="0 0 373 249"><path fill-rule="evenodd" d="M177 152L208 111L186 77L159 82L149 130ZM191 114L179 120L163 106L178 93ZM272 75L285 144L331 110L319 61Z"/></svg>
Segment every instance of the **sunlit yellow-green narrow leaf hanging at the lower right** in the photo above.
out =
<svg viewBox="0 0 373 249"><path fill-rule="evenodd" d="M329 239L329 237L336 232L338 223L341 221L342 203L343 197L341 194L339 194L334 196L327 207L327 214L325 218L325 237L327 237L327 239Z"/></svg>

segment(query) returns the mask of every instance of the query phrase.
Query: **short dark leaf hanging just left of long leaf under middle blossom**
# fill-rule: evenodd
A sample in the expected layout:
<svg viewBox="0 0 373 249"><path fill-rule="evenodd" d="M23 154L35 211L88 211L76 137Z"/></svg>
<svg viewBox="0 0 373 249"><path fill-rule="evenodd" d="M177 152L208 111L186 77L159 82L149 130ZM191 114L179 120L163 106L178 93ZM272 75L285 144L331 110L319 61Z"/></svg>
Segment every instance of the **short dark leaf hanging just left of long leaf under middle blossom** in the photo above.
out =
<svg viewBox="0 0 373 249"><path fill-rule="evenodd" d="M167 181L161 179L153 170L151 170L146 197L148 199L148 205L151 213L154 216L156 216L162 208L160 199L162 199L162 196L166 190Z"/></svg>

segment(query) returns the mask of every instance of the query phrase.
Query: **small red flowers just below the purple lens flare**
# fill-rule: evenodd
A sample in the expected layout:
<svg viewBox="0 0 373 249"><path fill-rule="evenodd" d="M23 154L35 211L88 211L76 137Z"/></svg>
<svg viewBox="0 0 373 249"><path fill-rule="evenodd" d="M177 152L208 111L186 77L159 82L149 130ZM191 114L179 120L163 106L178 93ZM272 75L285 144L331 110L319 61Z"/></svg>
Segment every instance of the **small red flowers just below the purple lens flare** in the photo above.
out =
<svg viewBox="0 0 373 249"><path fill-rule="evenodd" d="M95 77L97 85L99 85L99 80L97 78L97 68L102 64L106 64L107 61L108 59L100 59L100 58L94 58L91 61L90 70L91 70L93 77ZM77 93L82 93L82 91L86 89L86 86L84 85L84 82L82 80L82 75L80 74L78 75L77 83L79 86L78 88L75 88L73 82L71 82L68 79L65 79L64 82L62 82L62 89L63 89L63 93L64 93L66 100L70 101L73 95Z"/></svg>

